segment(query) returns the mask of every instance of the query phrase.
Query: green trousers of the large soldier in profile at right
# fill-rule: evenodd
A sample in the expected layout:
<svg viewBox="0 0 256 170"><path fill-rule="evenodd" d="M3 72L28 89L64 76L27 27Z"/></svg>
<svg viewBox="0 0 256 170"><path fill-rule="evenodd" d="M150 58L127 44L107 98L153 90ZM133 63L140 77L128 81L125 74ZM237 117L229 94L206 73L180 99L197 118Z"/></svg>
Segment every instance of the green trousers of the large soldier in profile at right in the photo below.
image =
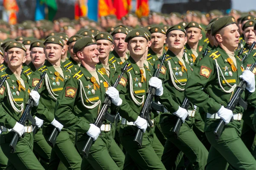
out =
<svg viewBox="0 0 256 170"><path fill-rule="evenodd" d="M239 124L239 121L236 122ZM224 128L221 137L216 140L213 133L215 127L212 126L211 130L206 132L207 139L212 145L206 170L225 170L228 164L234 170L256 170L256 160L241 140L239 128Z"/></svg>

